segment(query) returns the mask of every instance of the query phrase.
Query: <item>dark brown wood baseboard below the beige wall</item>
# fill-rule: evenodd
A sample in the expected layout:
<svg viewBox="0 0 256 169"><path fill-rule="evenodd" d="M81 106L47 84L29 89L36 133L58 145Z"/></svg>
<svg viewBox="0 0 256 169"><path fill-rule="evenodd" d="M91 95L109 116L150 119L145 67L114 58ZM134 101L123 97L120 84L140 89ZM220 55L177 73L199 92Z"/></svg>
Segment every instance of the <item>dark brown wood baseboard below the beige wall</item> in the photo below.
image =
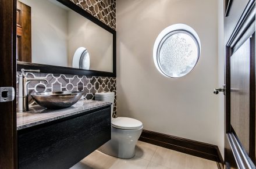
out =
<svg viewBox="0 0 256 169"><path fill-rule="evenodd" d="M216 145L179 138L177 136L161 134L159 132L148 130L143 130L138 140L161 146L163 148L176 150L177 152L216 161L218 168L223 168L224 166L221 152L219 152L219 148Z"/></svg>

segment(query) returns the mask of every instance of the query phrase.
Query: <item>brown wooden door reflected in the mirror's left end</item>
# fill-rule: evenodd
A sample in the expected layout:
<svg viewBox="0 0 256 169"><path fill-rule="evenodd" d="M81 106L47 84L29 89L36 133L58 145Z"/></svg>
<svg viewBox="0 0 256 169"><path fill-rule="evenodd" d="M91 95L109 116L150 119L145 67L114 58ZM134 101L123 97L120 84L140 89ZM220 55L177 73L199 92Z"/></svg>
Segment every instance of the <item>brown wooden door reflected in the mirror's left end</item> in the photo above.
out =
<svg viewBox="0 0 256 169"><path fill-rule="evenodd" d="M31 62L31 8L17 1L17 60Z"/></svg>

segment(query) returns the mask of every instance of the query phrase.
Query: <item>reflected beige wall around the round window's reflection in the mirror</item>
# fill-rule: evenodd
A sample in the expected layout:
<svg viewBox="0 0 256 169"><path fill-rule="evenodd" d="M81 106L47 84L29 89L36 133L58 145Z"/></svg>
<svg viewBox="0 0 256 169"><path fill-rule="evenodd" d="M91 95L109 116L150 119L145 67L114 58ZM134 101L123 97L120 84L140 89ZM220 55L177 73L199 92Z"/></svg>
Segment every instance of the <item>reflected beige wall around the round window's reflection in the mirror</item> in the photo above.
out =
<svg viewBox="0 0 256 169"><path fill-rule="evenodd" d="M76 49L84 47L90 55L90 70L113 72L113 35L73 10L67 20L69 67Z"/></svg>

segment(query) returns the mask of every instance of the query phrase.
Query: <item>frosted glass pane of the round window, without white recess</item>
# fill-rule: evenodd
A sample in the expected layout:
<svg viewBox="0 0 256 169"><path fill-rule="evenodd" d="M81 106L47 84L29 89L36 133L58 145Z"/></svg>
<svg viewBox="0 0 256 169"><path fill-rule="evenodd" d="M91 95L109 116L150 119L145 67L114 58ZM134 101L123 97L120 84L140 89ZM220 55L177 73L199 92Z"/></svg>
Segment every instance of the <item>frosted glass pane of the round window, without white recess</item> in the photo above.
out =
<svg viewBox="0 0 256 169"><path fill-rule="evenodd" d="M182 77L189 73L198 60L198 44L188 33L179 31L162 42L158 64L169 77Z"/></svg>

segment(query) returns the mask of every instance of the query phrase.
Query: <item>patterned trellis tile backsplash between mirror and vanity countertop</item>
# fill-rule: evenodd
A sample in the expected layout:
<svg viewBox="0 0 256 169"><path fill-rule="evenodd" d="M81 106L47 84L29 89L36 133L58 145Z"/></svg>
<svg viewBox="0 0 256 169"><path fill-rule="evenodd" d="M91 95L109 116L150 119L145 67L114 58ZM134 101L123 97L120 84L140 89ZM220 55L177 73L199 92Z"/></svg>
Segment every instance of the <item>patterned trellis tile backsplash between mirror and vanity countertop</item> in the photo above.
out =
<svg viewBox="0 0 256 169"><path fill-rule="evenodd" d="M30 82L29 103L33 103L30 94L33 92L83 91L84 99L94 99L96 92L115 92L113 117L116 117L116 78L88 77L84 75L64 75L45 73L26 73L30 78L46 78L48 84Z"/></svg>

